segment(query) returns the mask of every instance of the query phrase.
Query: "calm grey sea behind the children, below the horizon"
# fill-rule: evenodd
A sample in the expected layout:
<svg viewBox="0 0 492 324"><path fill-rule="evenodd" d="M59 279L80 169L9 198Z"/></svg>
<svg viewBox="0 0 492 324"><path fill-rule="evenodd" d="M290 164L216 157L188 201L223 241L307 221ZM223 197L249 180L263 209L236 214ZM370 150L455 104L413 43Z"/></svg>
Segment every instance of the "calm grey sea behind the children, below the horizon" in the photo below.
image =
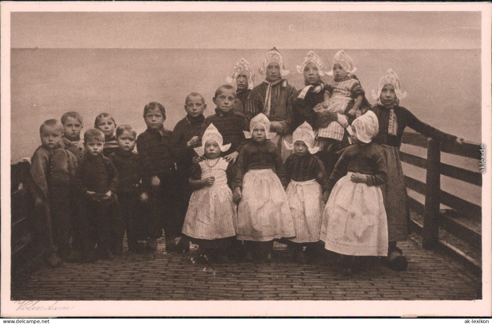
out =
<svg viewBox="0 0 492 324"><path fill-rule="evenodd" d="M282 50L286 77L303 86L297 72L309 49ZM331 65L337 50L315 50ZM355 73L374 103L371 92L388 68L400 76L408 93L401 106L442 131L466 140L481 140L481 58L477 50L347 50ZM150 101L167 110L165 127L172 129L185 116L189 92L205 97L205 115L214 112L215 89L241 57L258 68L266 50L202 49L12 49L11 50L11 161L31 157L39 145L39 125L66 111L81 112L85 129L95 116L108 112L117 124L145 131L143 108ZM329 81L330 77L325 76Z"/></svg>

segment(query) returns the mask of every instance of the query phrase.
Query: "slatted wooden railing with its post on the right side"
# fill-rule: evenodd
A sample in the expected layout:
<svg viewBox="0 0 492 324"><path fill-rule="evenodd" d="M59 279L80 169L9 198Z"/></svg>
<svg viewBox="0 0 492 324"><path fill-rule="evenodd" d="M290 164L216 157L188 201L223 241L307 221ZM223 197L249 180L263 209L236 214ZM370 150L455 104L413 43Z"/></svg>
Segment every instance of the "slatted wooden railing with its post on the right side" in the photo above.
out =
<svg viewBox="0 0 492 324"><path fill-rule="evenodd" d="M412 228L422 235L423 247L426 249L444 248L452 250L461 258L466 259L475 270L479 271L481 269L479 262L467 256L459 248L439 239L439 228L446 230L481 251L481 233L460 221L460 218L465 217L465 219L468 218L475 222L480 222L482 217L481 206L446 192L440 186L441 175L479 187L482 186L482 173L479 170L480 144L466 141L461 145L455 142L440 143L417 133L404 133L402 143L427 148L427 159L400 152L402 162L427 169L426 183L416 180L410 175L405 175L407 188L425 195L424 204L411 197L408 199L409 207L418 214L424 215L423 223L419 223L414 219L411 220ZM477 160L476 171L442 163L441 152ZM454 213L441 213L440 204L452 208ZM459 217L454 217L453 215L458 215Z"/></svg>

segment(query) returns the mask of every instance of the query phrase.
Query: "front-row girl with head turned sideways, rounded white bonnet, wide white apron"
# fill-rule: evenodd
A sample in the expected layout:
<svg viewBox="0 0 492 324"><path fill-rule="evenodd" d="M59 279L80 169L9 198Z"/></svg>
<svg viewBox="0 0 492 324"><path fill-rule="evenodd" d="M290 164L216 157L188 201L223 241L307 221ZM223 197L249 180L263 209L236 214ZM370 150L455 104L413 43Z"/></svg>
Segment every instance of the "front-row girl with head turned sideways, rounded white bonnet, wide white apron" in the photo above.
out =
<svg viewBox="0 0 492 324"><path fill-rule="evenodd" d="M380 185L387 180L386 161L379 145L372 111L358 117L347 131L354 145L342 153L330 176L320 240L327 250L351 256L345 271L356 267L354 256L386 256L388 225ZM328 198L329 197L329 198Z"/></svg>

